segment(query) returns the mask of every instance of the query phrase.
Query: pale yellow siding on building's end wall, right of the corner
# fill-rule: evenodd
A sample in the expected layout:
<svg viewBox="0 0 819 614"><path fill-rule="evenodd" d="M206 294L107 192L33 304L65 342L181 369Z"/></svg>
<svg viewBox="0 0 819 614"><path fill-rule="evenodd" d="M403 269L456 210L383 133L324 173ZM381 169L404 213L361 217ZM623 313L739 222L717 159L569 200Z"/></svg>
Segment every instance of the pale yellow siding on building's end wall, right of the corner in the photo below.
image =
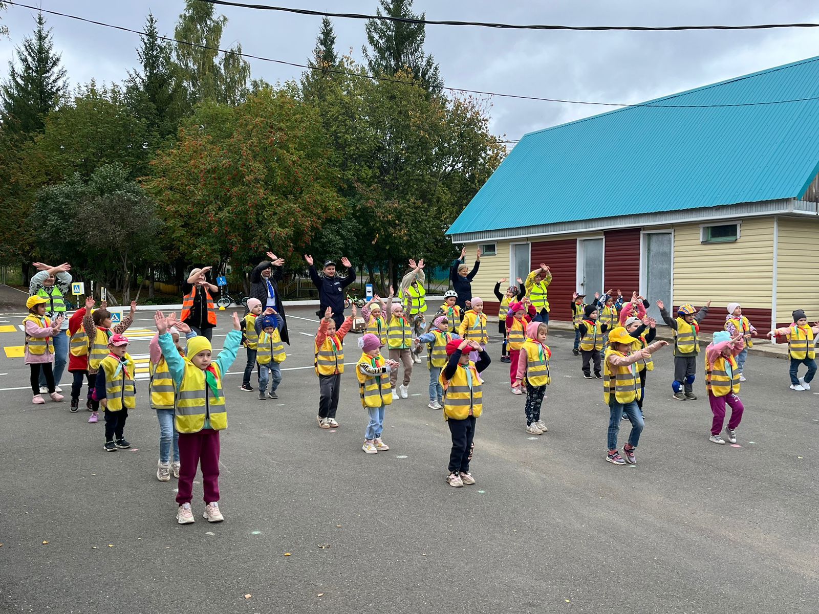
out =
<svg viewBox="0 0 819 614"><path fill-rule="evenodd" d="M804 309L808 320L819 320L819 220L779 218L776 262L776 321L791 323L790 313Z"/></svg>

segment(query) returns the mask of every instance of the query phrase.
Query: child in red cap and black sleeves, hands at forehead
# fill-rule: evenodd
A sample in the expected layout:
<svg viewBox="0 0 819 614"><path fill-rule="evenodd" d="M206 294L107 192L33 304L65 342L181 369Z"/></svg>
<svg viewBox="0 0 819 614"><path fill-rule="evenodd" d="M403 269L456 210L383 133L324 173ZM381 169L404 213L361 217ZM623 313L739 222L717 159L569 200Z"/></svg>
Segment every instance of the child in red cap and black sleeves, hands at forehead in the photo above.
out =
<svg viewBox="0 0 819 614"><path fill-rule="evenodd" d="M477 352L477 363L469 359L472 350ZM469 472L469 462L475 447L475 419L483 410L482 381L478 373L491 363L489 354L475 340L453 339L446 344L448 357L441 371L444 389L444 419L450 427L452 449L446 483L463 486L475 483Z"/></svg>

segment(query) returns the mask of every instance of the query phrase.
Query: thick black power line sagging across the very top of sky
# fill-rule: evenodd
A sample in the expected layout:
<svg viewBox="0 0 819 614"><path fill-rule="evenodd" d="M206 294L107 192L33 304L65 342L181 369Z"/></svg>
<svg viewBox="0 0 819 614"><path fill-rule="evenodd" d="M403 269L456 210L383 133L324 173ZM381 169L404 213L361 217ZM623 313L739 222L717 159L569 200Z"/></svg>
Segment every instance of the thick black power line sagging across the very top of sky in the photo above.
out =
<svg viewBox="0 0 819 614"><path fill-rule="evenodd" d="M682 30L698 30L698 29L717 29L717 30L735 30L735 29L775 29L775 28L819 28L819 24L808 23L794 23L794 24L756 24L756 25L518 25L518 24L499 24L486 21L454 21L454 20L426 20L414 19L410 17L393 17L388 15L362 15L361 13L329 13L325 11L310 11L306 8L287 8L287 7L271 7L267 4L248 4L247 2L230 2L229 0L199 0L199 2L208 2L209 4L219 4L225 7L242 7L252 8L262 11L282 11L287 13L296 13L297 15L310 15L321 17L339 17L342 19L364 19L364 20L382 20L393 21L405 24L423 24L423 25L471 25L482 28L495 29L540 29L540 30L575 30L575 31L611 31L611 30L628 30L632 32L680 32Z"/></svg>

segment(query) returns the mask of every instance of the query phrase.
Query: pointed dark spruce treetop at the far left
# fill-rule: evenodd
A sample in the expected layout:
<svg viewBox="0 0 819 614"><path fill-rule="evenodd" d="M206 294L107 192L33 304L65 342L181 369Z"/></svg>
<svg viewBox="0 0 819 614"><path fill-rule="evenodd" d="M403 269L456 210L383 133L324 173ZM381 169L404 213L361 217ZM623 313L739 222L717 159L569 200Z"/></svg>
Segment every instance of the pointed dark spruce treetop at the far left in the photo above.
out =
<svg viewBox="0 0 819 614"><path fill-rule="evenodd" d="M60 65L61 56L54 53L51 29L45 24L38 13L34 34L15 48L20 66L9 61L9 78L0 86L0 120L10 133L42 132L43 118L66 93L66 70Z"/></svg>

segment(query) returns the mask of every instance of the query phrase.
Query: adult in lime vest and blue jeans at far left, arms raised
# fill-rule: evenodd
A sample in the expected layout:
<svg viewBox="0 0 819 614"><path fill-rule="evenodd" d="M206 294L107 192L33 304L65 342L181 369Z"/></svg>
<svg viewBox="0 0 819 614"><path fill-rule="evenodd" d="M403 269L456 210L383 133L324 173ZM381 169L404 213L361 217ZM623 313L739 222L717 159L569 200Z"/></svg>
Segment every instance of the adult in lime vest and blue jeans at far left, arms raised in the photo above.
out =
<svg viewBox="0 0 819 614"><path fill-rule="evenodd" d="M66 370L68 362L68 319L66 317L66 299L71 291L71 265L67 262L59 266L52 267L50 264L33 262L37 273L29 282L29 295L41 296L46 300L46 315L52 322L62 316L60 330L52 337L54 345L54 384L57 392L62 392L60 381L62 373ZM40 394L48 392L48 384L45 375L40 373L39 378Z"/></svg>

